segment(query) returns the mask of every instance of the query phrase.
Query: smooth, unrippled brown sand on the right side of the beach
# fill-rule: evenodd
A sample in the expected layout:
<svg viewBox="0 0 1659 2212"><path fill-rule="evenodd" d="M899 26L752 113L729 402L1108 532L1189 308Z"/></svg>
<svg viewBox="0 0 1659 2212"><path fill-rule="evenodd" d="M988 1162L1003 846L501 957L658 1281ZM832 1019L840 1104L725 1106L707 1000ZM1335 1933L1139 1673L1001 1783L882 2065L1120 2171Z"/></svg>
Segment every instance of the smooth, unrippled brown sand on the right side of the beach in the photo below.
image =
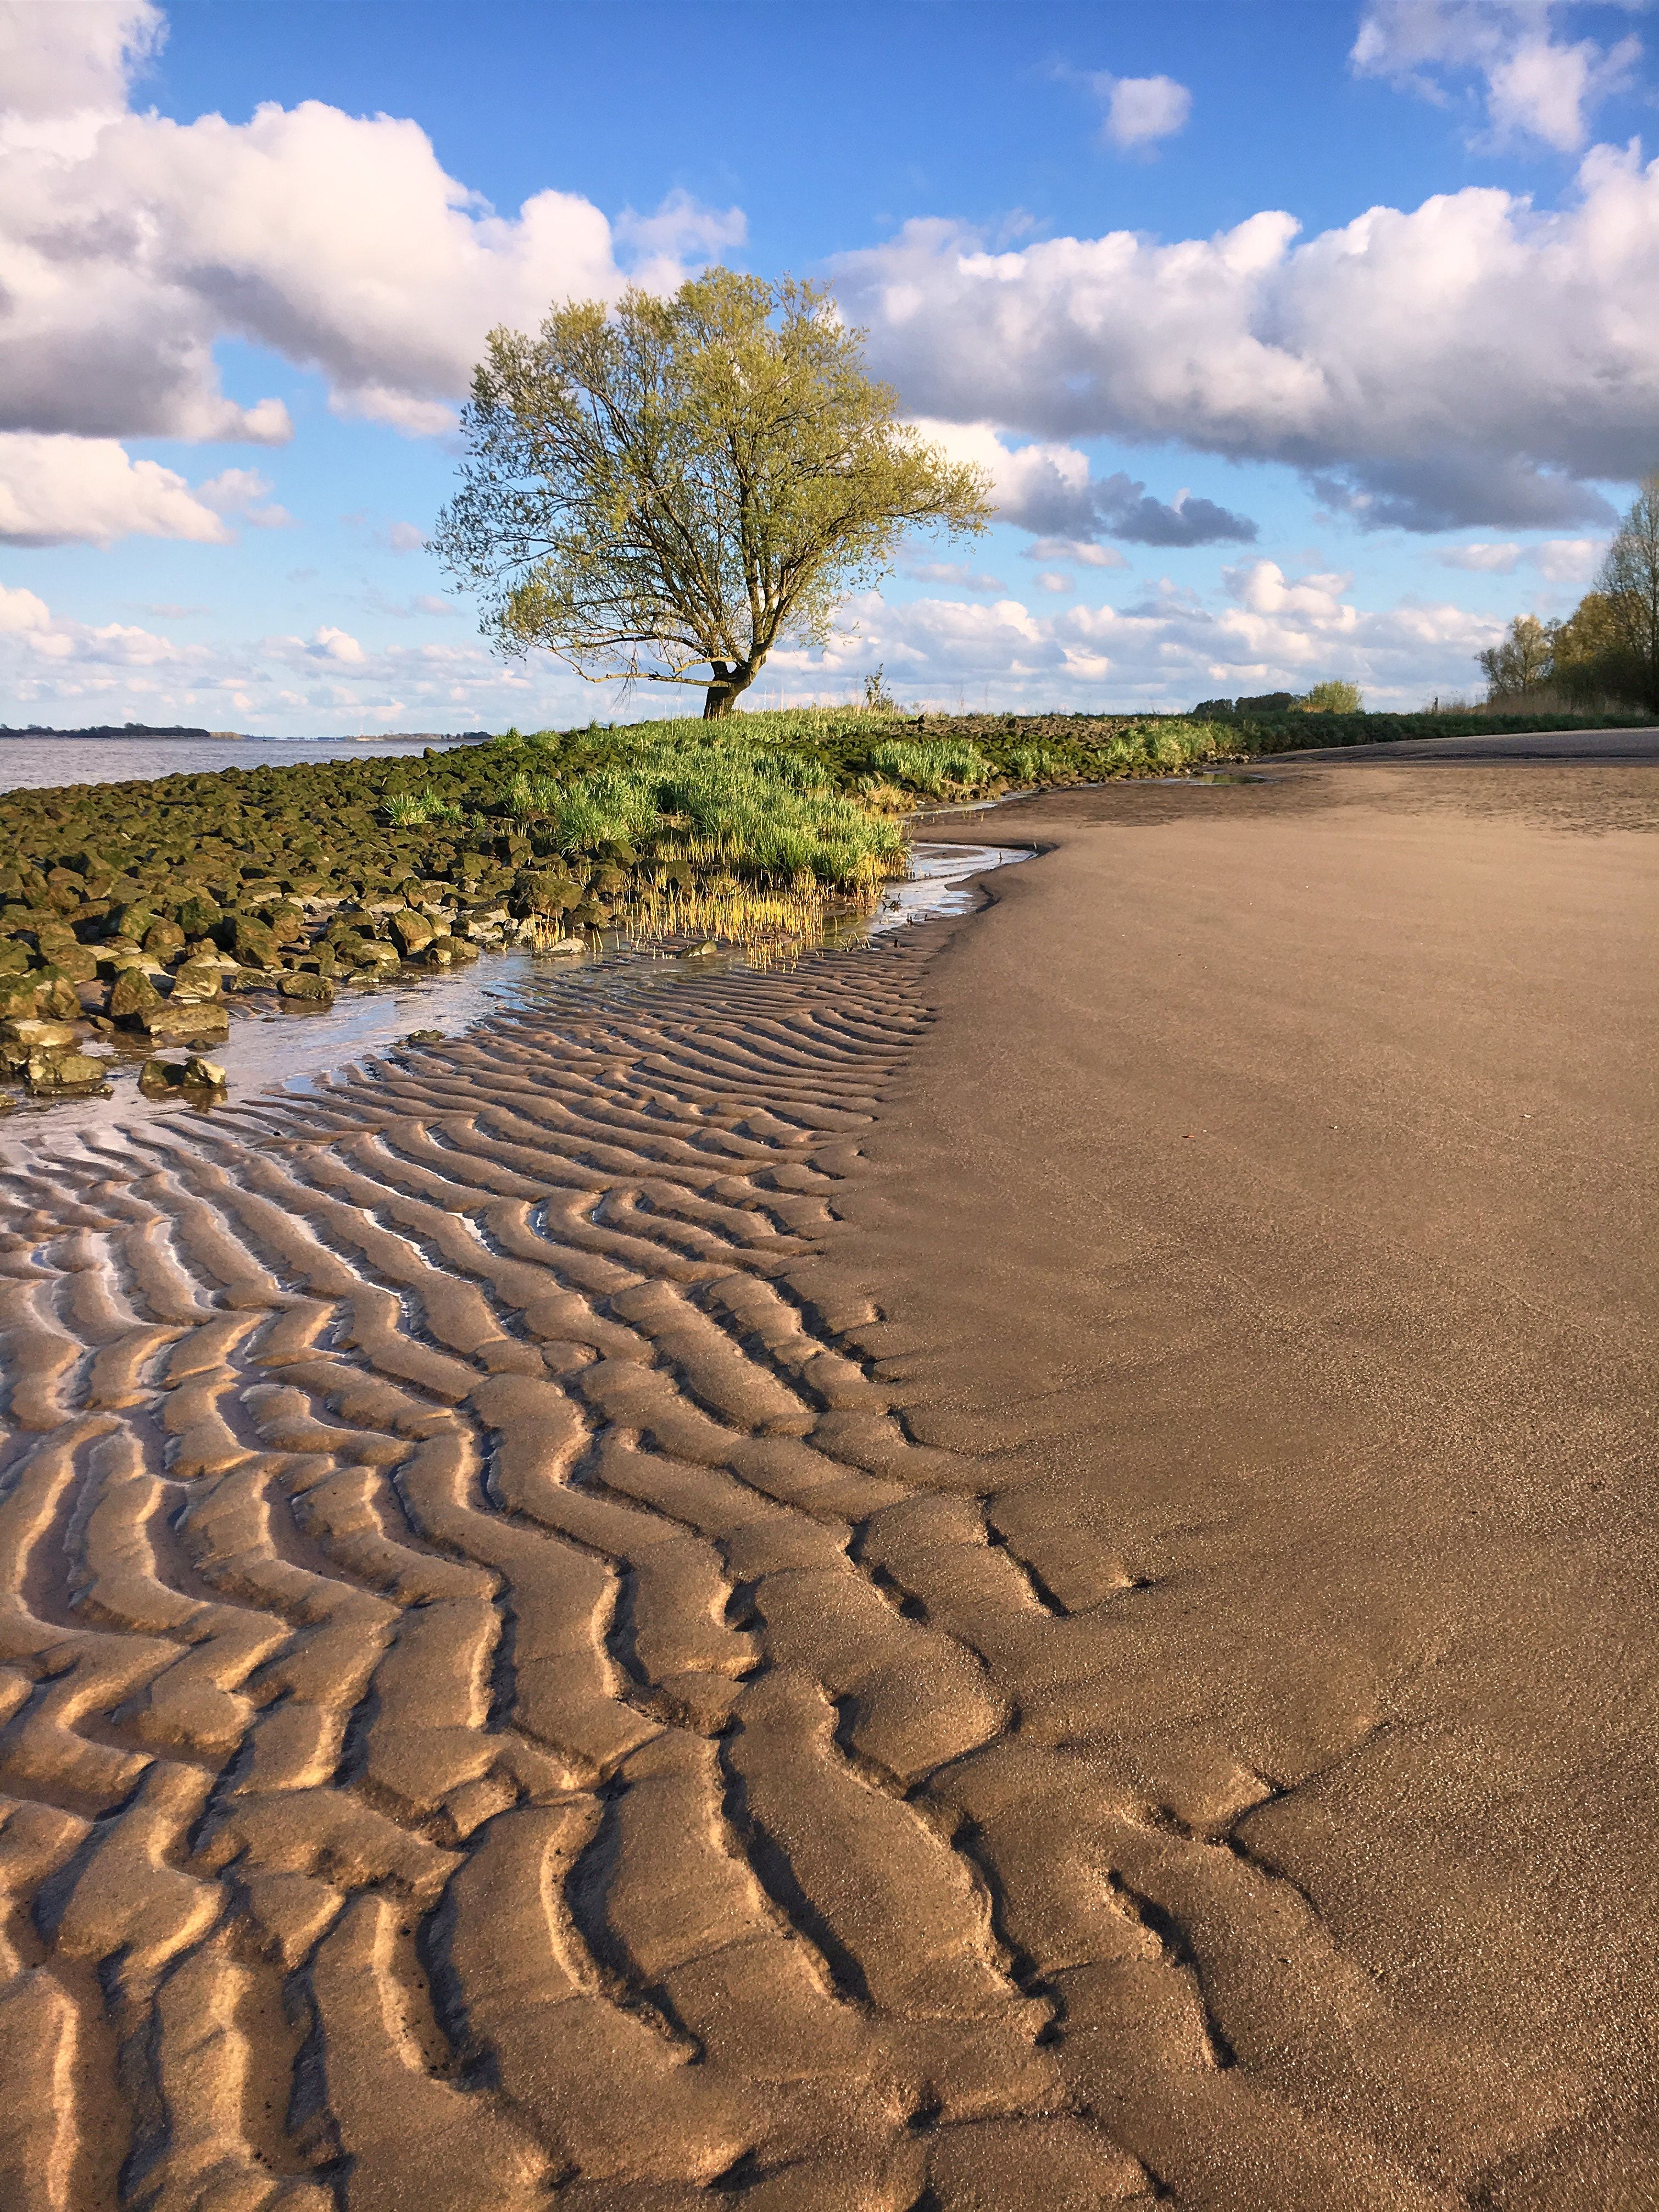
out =
<svg viewBox="0 0 1659 2212"><path fill-rule="evenodd" d="M951 1783L1066 2084L1181 2203L1659 2203L1659 770L998 825L843 1256L1068 1613Z"/></svg>

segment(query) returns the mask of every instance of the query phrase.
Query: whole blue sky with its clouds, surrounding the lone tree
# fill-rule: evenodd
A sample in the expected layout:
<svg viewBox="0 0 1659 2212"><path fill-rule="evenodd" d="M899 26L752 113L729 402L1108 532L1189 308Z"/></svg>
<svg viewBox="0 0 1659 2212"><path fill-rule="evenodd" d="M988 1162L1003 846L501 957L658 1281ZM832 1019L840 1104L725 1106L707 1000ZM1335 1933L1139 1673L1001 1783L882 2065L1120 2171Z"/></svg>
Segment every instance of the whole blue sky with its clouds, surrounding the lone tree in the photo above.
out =
<svg viewBox="0 0 1659 2212"><path fill-rule="evenodd" d="M1659 465L1641 0L0 4L0 723L697 712L427 551L484 334L832 285L993 482L754 706L1478 697Z"/></svg>

